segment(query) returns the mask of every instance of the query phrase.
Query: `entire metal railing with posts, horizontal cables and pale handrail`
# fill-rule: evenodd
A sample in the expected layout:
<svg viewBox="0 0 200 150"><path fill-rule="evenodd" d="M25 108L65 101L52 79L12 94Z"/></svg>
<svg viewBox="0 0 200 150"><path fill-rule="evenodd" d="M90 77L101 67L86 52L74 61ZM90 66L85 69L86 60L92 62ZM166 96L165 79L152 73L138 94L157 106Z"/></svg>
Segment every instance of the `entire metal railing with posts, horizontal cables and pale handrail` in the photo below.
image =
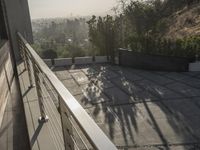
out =
<svg viewBox="0 0 200 150"><path fill-rule="evenodd" d="M37 89L40 121L45 122L49 117L47 123L51 124L57 149L117 149L23 36L20 33L17 36L30 86ZM50 110L56 106L51 105L53 101L57 101L57 112Z"/></svg>

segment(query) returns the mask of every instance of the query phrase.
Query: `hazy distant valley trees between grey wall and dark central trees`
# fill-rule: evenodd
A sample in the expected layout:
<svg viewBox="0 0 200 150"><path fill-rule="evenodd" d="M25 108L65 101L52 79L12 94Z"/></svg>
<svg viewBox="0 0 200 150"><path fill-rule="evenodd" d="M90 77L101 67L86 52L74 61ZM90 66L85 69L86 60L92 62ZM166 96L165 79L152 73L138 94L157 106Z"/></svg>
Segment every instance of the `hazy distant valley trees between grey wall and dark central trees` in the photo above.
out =
<svg viewBox="0 0 200 150"><path fill-rule="evenodd" d="M49 49L56 52L57 57L85 56L90 51L88 26L84 18L37 20L32 24L33 47L42 57L48 57L46 51Z"/></svg>

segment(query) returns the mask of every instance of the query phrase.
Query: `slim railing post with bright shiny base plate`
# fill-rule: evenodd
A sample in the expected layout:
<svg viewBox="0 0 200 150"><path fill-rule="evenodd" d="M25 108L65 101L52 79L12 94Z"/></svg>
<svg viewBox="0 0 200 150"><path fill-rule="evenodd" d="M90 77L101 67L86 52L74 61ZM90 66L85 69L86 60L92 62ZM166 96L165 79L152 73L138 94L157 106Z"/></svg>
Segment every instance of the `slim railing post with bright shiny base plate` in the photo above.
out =
<svg viewBox="0 0 200 150"><path fill-rule="evenodd" d="M42 89L41 89L41 80L39 77L40 71L37 65L33 62L33 72L35 76L35 87L36 87L36 92L37 92L37 97L38 97L38 102L39 102L39 108L40 108L40 114L41 116L39 117L40 122L47 122L49 120L48 116L45 114L44 111L44 99L42 97Z"/></svg>

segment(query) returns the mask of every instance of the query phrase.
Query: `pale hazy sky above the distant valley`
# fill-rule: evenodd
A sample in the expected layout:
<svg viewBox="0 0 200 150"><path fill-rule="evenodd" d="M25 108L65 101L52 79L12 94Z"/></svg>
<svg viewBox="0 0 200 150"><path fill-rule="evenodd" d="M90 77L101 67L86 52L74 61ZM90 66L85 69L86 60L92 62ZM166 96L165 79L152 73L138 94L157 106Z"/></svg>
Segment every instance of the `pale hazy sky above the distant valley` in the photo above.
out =
<svg viewBox="0 0 200 150"><path fill-rule="evenodd" d="M109 12L116 0L28 0L31 18L88 16Z"/></svg>

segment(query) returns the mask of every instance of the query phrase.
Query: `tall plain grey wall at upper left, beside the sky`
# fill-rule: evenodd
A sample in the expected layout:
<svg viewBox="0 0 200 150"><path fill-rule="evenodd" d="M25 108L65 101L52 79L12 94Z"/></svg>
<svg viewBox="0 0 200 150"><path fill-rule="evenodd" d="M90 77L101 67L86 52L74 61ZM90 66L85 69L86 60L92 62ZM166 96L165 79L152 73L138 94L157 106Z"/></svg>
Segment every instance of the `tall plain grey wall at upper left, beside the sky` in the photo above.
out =
<svg viewBox="0 0 200 150"><path fill-rule="evenodd" d="M20 32L29 43L33 43L32 27L27 0L2 0L4 16L9 32L9 40L16 60L20 55L16 32Z"/></svg>

